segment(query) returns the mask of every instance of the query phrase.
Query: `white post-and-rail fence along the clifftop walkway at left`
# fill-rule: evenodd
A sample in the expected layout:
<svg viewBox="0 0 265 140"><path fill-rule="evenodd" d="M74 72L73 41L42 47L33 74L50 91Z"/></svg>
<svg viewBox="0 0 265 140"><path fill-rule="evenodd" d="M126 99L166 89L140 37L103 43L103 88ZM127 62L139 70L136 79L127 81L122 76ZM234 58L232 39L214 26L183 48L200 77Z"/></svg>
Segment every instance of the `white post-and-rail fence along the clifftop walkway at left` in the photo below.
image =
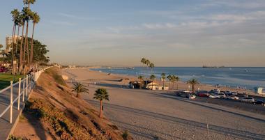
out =
<svg viewBox="0 0 265 140"><path fill-rule="evenodd" d="M48 67L50 68L50 67ZM22 98L22 102L25 102L25 96L26 99L28 99L29 97L29 93L31 93L31 90L33 89L33 87L36 84L36 81L38 80L38 78L40 77L40 74L42 72L44 72L47 68L43 69L43 70L39 70L38 72L33 72L32 74L26 75L23 79L19 79L19 81L15 84L13 84L13 81L10 81L10 86L2 89L0 91L0 94L4 93L4 94L10 94L10 103L9 105L6 107L6 109L4 109L2 112L0 112L0 118L7 113L8 110L10 110L10 123L13 123L13 105L15 104L15 102L17 102L17 110L20 110L20 100ZM17 91L17 98L13 99L13 95L14 95L14 90ZM6 100L8 102L8 99Z"/></svg>

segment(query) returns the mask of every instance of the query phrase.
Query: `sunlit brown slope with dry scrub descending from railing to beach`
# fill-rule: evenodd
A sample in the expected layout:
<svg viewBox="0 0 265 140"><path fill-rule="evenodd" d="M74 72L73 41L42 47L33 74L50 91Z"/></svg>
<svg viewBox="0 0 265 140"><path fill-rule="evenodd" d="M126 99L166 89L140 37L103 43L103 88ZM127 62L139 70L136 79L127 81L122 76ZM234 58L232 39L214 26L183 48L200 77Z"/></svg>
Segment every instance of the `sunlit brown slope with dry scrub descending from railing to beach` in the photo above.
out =
<svg viewBox="0 0 265 140"><path fill-rule="evenodd" d="M98 111L90 104L75 98L56 68L40 75L23 116L34 121L31 124L39 122L38 126L43 127L52 139L126 139L123 132L107 118L100 120Z"/></svg>

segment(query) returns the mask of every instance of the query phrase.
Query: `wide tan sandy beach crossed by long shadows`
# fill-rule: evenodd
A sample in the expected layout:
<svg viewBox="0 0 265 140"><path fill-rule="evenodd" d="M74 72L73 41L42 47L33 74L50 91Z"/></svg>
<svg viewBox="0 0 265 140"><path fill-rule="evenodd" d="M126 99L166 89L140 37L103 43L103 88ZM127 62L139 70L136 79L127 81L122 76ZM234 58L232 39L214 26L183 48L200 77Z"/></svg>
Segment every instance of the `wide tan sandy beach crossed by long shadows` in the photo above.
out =
<svg viewBox="0 0 265 140"><path fill-rule="evenodd" d="M129 89L129 80L121 79L136 77L127 75L107 75L88 68L63 69L61 74L68 75L68 86L74 81L84 83L90 93L82 97L96 109L94 91L107 88L110 101L104 103L105 116L135 139L265 139L262 114L167 95L172 91ZM180 82L179 88L188 85Z"/></svg>

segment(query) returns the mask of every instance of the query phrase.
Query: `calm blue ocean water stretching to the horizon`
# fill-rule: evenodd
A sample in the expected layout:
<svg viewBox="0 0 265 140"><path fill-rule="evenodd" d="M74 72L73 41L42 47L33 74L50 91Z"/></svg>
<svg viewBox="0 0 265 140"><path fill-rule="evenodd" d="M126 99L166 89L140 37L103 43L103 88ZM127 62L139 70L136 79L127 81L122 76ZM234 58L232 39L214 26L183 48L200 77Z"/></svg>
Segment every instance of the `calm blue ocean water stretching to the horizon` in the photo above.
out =
<svg viewBox="0 0 265 140"><path fill-rule="evenodd" d="M151 69L146 67L126 68L97 68L92 69L107 73L122 75L143 75L149 77ZM202 84L212 84L230 87L241 87L253 90L255 87L265 87L265 68L199 68L199 67L156 67L153 74L157 79L161 73L166 75L177 75L181 81L198 79Z"/></svg>

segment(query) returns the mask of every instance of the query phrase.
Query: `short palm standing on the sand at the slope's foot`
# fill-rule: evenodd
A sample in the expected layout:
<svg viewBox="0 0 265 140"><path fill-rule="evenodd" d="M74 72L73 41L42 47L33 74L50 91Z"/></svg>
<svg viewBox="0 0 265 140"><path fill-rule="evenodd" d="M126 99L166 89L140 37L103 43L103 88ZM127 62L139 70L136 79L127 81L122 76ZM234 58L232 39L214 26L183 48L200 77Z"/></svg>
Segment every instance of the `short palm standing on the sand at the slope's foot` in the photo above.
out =
<svg viewBox="0 0 265 140"><path fill-rule="evenodd" d="M99 117L102 118L103 115L103 100L109 100L109 93L105 88L98 88L94 94L94 99L100 101L100 114Z"/></svg>

